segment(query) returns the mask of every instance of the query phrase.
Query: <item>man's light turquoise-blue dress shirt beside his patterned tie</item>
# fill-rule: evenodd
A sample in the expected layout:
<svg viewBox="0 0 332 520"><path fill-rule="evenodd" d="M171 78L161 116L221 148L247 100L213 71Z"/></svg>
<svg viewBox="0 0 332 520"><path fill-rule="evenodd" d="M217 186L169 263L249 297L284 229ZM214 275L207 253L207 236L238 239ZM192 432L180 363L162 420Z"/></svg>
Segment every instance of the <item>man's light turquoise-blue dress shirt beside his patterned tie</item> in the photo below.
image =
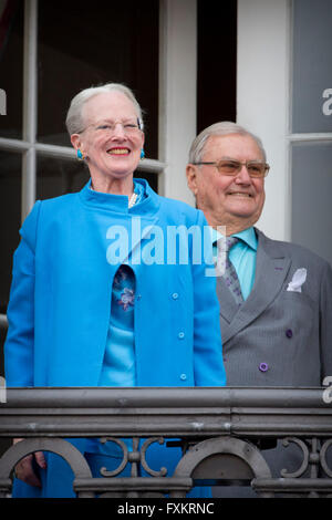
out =
<svg viewBox="0 0 332 520"><path fill-rule="evenodd" d="M215 246L215 241L218 240L221 235L216 229L211 228L211 236L214 243L214 254L217 256L217 247ZM247 300L255 282L258 240L252 227L238 233L234 233L231 237L237 237L240 239L230 249L229 260L234 264L237 272L243 300Z"/></svg>

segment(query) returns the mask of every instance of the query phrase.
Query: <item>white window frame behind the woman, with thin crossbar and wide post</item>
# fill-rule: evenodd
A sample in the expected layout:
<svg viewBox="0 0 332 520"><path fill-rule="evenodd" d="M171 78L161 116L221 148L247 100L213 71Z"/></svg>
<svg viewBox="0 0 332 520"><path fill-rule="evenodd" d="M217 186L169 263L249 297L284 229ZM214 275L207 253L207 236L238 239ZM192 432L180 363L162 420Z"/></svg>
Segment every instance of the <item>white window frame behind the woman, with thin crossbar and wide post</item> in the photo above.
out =
<svg viewBox="0 0 332 520"><path fill-rule="evenodd" d="M21 222L35 202L38 155L76 160L72 147L37 141L38 1L24 0L22 139L0 136L0 149L22 154ZM139 164L141 171L158 176L160 195L191 205L185 166L196 135L196 0L159 0L158 159ZM0 326L6 325L6 315L0 314Z"/></svg>

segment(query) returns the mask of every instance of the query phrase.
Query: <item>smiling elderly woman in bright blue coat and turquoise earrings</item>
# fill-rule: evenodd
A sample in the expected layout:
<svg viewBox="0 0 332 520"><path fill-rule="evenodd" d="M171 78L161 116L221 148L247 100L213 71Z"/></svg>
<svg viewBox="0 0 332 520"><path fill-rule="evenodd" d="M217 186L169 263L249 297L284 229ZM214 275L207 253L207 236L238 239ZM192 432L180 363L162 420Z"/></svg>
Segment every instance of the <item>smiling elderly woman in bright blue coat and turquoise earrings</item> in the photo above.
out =
<svg viewBox="0 0 332 520"><path fill-rule="evenodd" d="M22 226L8 386L225 385L207 222L133 178L144 133L132 91L113 83L80 92L66 126L91 179L80 193L37 201ZM94 474L118 466L114 443L72 441ZM159 447L155 466L165 465L163 451L172 474L179 450ZM73 496L59 456L31 455L15 472L15 496Z"/></svg>

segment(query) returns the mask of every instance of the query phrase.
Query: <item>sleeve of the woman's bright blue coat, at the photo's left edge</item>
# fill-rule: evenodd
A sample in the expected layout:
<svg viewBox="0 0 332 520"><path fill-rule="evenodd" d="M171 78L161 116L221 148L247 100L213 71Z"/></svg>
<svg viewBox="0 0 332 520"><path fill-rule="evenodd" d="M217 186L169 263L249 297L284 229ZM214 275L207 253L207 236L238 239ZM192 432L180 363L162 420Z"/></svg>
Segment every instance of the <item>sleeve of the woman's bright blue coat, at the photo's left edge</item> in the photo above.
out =
<svg viewBox="0 0 332 520"><path fill-rule="evenodd" d="M4 343L7 386L32 386L34 342L34 251L40 201L27 217L13 256L8 333Z"/></svg>

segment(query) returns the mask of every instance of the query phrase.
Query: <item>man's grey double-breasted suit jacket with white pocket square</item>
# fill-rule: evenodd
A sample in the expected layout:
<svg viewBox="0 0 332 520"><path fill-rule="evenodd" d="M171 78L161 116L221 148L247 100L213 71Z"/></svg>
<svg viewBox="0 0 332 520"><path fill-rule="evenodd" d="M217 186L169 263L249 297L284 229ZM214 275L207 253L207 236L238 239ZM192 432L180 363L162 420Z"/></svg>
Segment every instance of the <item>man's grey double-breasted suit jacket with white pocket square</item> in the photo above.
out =
<svg viewBox="0 0 332 520"><path fill-rule="evenodd" d="M217 279L227 384L321 386L332 375L331 267L256 231L255 284L240 308Z"/></svg>

